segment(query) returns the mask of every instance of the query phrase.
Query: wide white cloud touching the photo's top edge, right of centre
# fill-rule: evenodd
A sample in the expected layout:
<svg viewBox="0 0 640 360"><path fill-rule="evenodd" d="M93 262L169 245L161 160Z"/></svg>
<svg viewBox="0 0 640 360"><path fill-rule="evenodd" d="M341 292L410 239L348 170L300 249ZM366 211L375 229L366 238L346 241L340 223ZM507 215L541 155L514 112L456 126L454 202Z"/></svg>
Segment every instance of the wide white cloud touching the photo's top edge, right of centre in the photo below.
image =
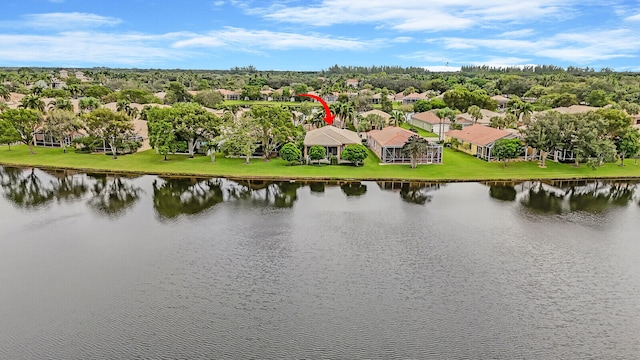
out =
<svg viewBox="0 0 640 360"><path fill-rule="evenodd" d="M566 16L577 0L321 0L306 6L246 9L267 19L313 26L382 24L399 31L449 31L488 22L532 22ZM382 24L381 24L382 23ZM495 24L491 24L495 25Z"/></svg>

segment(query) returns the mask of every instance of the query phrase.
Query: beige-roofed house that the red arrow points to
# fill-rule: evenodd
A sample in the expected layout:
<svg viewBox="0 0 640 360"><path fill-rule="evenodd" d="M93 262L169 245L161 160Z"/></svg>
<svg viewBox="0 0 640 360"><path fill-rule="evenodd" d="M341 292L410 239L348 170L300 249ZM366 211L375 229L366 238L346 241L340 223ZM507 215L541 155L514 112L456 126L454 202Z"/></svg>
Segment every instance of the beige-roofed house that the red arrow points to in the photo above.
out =
<svg viewBox="0 0 640 360"><path fill-rule="evenodd" d="M304 137L304 158L307 158L309 148L315 145L323 146L326 157L336 156L340 160L340 154L347 145L362 144L360 136L355 131L340 129L335 126L323 126L319 129L307 132Z"/></svg>

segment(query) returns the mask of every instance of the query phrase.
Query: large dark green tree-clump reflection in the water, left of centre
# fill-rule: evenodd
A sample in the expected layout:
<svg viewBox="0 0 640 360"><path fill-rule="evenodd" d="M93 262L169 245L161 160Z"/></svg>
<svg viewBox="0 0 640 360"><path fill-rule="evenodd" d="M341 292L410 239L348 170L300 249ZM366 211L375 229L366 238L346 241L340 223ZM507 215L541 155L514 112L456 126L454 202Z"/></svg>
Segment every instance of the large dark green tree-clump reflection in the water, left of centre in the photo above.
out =
<svg viewBox="0 0 640 360"><path fill-rule="evenodd" d="M153 208L160 218L201 213L224 201L220 179L163 178L153 181Z"/></svg>

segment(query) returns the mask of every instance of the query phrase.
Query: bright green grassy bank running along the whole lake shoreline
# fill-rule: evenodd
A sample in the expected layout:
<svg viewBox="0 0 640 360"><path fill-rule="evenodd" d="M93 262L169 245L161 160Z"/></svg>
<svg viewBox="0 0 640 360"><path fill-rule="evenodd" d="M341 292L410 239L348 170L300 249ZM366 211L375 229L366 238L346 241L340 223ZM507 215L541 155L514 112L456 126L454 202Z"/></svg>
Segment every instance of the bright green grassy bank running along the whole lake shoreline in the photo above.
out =
<svg viewBox="0 0 640 360"><path fill-rule="evenodd" d="M149 174L207 175L224 177L286 178L286 179L359 179L359 180L523 180L523 179L577 179L577 178L640 178L640 165L627 160L627 165L606 164L597 170L582 165L547 162L541 169L534 162L514 162L507 168L502 163L487 163L473 156L445 149L444 164L421 165L411 169L409 165L379 165L373 153L362 167L341 166L289 166L280 159L264 161L253 159L251 164L243 164L242 159L197 156L189 159L183 155L162 156L153 150L134 155L121 156L117 160L102 154L63 154L60 149L36 148L35 155L29 155L26 146L13 146L8 151L0 147L0 164L39 167L73 168L82 170L106 170L114 172L137 172Z"/></svg>

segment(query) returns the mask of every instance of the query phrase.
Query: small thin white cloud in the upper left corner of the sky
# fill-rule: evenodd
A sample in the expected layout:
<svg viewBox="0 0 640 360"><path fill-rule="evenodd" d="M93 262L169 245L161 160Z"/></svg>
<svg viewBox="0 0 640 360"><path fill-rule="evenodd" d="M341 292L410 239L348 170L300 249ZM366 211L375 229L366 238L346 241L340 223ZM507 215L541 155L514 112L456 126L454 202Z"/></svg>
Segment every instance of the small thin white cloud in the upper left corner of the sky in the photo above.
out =
<svg viewBox="0 0 640 360"><path fill-rule="evenodd" d="M79 12L71 13L47 13L25 15L22 21L12 21L11 24L3 22L3 25L15 27L27 27L35 29L84 29L100 26L115 26L122 20L112 17L100 16Z"/></svg>

